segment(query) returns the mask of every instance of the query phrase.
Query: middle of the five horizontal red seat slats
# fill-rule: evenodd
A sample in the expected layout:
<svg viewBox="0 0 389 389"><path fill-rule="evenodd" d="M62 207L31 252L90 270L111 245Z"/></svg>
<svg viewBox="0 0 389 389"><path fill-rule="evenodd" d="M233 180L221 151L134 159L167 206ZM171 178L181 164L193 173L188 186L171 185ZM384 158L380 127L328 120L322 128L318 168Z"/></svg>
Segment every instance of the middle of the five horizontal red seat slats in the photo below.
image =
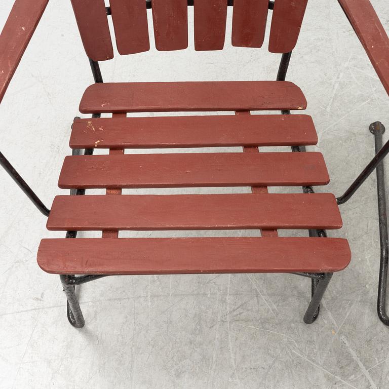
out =
<svg viewBox="0 0 389 389"><path fill-rule="evenodd" d="M325 185L319 152L72 155L58 185L69 188Z"/></svg>

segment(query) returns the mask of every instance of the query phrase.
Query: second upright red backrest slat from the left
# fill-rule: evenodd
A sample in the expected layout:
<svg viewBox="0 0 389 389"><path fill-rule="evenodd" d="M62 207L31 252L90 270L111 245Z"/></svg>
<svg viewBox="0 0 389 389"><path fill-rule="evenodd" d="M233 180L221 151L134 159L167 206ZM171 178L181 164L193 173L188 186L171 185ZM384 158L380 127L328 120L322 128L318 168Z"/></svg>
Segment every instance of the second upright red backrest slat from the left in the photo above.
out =
<svg viewBox="0 0 389 389"><path fill-rule="evenodd" d="M109 0L116 46L120 54L150 49L144 0Z"/></svg>

